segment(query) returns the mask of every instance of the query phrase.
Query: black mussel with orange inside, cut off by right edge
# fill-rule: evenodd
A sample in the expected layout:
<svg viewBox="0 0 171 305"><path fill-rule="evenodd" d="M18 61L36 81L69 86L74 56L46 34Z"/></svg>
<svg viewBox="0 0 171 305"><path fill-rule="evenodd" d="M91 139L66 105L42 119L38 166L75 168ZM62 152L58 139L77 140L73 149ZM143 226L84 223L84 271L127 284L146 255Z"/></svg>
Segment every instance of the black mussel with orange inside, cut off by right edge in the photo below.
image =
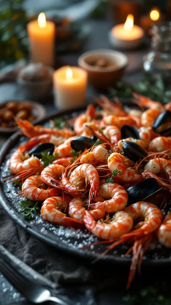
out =
<svg viewBox="0 0 171 305"><path fill-rule="evenodd" d="M171 134L171 111L163 111L152 125L152 129L159 135L170 135Z"/></svg>

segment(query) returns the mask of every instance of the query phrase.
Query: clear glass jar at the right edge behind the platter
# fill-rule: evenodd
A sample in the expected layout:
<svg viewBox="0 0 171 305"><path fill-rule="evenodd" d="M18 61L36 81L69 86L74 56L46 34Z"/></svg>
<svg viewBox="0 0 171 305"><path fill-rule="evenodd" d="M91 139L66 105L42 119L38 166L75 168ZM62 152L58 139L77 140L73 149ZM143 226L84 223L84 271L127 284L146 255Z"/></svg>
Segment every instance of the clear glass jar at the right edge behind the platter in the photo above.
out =
<svg viewBox="0 0 171 305"><path fill-rule="evenodd" d="M160 75L171 85L171 22L155 22L151 32L151 47L143 58L143 69L152 79Z"/></svg>

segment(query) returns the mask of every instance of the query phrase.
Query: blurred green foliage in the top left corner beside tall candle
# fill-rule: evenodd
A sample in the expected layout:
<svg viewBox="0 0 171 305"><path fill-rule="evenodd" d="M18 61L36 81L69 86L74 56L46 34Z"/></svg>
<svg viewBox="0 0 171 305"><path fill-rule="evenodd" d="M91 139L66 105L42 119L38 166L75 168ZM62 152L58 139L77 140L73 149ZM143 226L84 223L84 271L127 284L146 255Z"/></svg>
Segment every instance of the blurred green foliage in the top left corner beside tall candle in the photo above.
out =
<svg viewBox="0 0 171 305"><path fill-rule="evenodd" d="M0 68L27 56L28 18L23 0L0 0Z"/></svg>

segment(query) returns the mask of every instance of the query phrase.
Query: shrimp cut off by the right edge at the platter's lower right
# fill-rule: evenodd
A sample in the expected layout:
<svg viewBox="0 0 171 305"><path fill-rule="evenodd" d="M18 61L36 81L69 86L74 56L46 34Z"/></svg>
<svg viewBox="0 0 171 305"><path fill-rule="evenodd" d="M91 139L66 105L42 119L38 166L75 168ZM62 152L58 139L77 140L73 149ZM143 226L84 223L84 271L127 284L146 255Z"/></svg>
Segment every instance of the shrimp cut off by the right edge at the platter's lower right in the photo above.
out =
<svg viewBox="0 0 171 305"><path fill-rule="evenodd" d="M166 248L171 248L171 212L166 215L164 221L157 231L159 243Z"/></svg>

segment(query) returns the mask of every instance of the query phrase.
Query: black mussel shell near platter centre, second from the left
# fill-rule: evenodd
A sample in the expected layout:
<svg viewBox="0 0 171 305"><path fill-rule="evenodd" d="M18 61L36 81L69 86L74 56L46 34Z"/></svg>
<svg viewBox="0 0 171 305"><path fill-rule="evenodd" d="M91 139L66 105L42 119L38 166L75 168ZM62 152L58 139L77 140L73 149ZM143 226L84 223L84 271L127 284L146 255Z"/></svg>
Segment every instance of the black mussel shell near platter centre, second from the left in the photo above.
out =
<svg viewBox="0 0 171 305"><path fill-rule="evenodd" d="M77 137L71 141L71 147L76 152L84 151L86 148L92 147L94 145L94 140L87 138L87 137Z"/></svg>

